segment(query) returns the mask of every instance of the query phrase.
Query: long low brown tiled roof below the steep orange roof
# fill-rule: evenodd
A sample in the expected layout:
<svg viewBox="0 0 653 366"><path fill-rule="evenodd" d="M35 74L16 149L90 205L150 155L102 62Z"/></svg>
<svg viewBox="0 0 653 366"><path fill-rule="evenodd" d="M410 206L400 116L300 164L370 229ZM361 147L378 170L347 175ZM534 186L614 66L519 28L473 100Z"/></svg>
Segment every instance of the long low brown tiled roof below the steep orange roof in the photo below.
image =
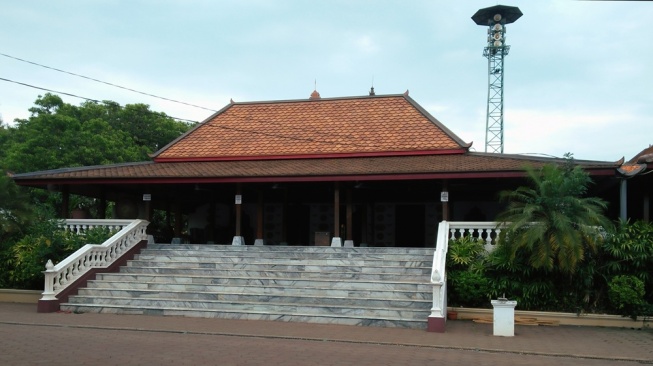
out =
<svg viewBox="0 0 653 366"><path fill-rule="evenodd" d="M205 162L142 162L109 166L58 169L17 174L19 184L38 185L43 182L77 183L102 181L129 182L193 182L193 181L257 181L257 180L331 180L356 177L359 180L418 179L420 175L437 177L505 177L523 174L527 165L539 167L560 159L465 153L456 155L423 155L392 157L358 157L349 159L277 159L252 161ZM576 161L594 172L614 172L622 162ZM42 182L42 183L39 183Z"/></svg>

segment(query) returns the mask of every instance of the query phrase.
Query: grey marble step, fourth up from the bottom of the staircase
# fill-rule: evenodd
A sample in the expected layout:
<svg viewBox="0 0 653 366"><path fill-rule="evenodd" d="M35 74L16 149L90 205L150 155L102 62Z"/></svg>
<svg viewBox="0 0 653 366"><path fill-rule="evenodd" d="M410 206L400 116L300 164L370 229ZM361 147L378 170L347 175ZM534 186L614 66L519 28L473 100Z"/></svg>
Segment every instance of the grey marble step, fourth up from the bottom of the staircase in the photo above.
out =
<svg viewBox="0 0 653 366"><path fill-rule="evenodd" d="M139 265L139 266L128 266L122 269L123 273L157 273L157 274L167 274L167 275L195 275L195 276L211 276L211 277L265 277L265 278L328 278L328 279L340 279L340 280L398 280L398 281L411 281L419 278L428 278L428 272L418 271L417 273L411 273L408 270L400 272L400 269L397 269L397 273L383 273L383 272L361 272L349 270L343 271L340 268L335 269L326 269L318 271L308 271L308 270L278 270L278 269L265 269L265 268L253 268L253 269L240 269L240 268L202 268L202 267L182 267L182 266L152 266Z"/></svg>

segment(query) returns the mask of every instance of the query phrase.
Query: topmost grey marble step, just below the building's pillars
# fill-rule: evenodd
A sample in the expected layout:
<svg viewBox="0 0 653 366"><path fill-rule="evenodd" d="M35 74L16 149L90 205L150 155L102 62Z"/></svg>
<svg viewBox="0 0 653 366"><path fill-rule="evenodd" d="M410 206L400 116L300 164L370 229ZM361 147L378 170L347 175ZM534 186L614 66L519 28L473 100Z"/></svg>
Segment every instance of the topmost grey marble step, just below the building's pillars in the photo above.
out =
<svg viewBox="0 0 653 366"><path fill-rule="evenodd" d="M148 249L152 250L182 250L184 252L199 250L203 253L211 253L213 251L227 251L227 252L288 252L288 253L355 253L358 255L381 255L381 254L400 254L400 255L433 255L435 248L377 248L377 247L356 247L356 248L343 248L343 247L318 247L318 246L253 246L253 245L210 245L210 244L148 244Z"/></svg>

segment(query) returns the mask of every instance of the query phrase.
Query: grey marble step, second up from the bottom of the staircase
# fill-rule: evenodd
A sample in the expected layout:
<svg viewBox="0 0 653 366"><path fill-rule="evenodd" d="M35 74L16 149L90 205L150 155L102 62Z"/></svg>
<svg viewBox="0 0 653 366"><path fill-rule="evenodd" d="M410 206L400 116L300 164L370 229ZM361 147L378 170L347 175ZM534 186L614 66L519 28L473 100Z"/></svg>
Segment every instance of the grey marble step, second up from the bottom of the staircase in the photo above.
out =
<svg viewBox="0 0 653 366"><path fill-rule="evenodd" d="M190 292L190 291L159 291L159 290L131 290L131 289L81 289L71 299L71 303L80 303L81 298L131 298L131 299L172 299L192 301L226 301L231 303L276 303L309 306L351 306L356 308L370 307L383 309L430 309L432 301L427 299L386 299L365 296L328 296L321 293L310 295L308 293L288 294L279 293L252 294L239 292ZM87 303L87 302L85 302Z"/></svg>

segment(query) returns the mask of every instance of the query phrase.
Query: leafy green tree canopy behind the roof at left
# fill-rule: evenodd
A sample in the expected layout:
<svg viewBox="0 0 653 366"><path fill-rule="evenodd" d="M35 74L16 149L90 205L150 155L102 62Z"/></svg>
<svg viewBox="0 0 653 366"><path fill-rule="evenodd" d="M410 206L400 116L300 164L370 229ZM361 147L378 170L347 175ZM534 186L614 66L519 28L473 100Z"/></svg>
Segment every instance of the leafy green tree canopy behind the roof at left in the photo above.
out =
<svg viewBox="0 0 653 366"><path fill-rule="evenodd" d="M39 96L31 116L0 128L0 167L15 173L147 160L190 127L145 104L64 103Z"/></svg>

